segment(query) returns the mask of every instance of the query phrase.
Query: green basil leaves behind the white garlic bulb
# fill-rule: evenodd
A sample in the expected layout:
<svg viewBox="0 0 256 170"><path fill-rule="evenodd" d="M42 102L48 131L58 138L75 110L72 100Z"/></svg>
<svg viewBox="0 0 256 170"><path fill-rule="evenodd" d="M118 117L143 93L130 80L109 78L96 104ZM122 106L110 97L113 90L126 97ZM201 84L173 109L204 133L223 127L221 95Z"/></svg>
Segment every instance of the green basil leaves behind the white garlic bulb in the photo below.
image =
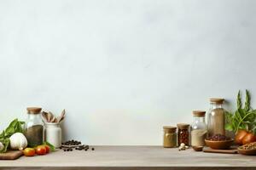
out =
<svg viewBox="0 0 256 170"><path fill-rule="evenodd" d="M25 122L20 122L18 119L9 123L9 126L0 133L0 142L4 145L3 150L0 150L0 153L6 152L9 147L9 137L14 133L23 133L23 124Z"/></svg>

